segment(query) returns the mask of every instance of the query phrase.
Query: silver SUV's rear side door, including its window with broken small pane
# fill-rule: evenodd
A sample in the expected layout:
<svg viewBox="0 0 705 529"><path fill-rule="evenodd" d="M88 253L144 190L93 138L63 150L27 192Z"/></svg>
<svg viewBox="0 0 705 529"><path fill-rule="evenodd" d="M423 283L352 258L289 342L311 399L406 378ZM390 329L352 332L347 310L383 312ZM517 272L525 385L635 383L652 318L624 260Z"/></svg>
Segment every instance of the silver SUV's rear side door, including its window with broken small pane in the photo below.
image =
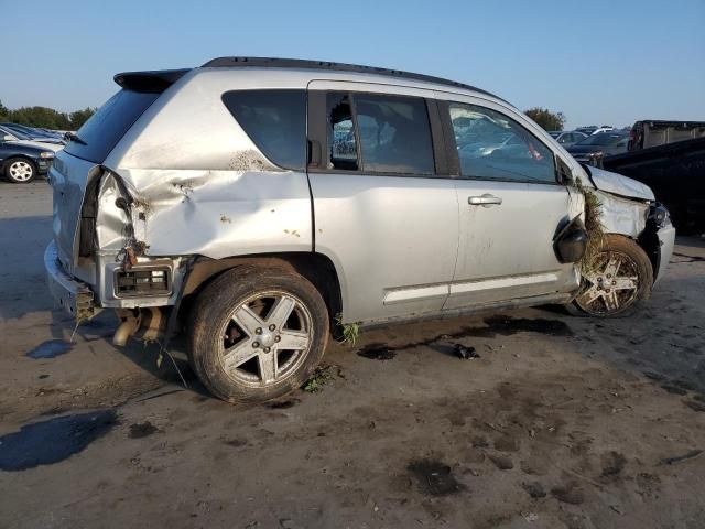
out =
<svg viewBox="0 0 705 529"><path fill-rule="evenodd" d="M315 251L341 283L345 321L440 312L458 241L454 181L424 90L308 85Z"/></svg>

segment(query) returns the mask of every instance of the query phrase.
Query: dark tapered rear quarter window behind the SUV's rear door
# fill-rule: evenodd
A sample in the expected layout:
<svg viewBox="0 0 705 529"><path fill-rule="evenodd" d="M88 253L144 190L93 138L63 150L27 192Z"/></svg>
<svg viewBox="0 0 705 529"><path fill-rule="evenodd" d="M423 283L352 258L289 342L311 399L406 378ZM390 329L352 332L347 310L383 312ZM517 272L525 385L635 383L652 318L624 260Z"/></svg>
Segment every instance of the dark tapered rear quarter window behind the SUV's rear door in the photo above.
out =
<svg viewBox="0 0 705 529"><path fill-rule="evenodd" d="M223 102L257 148L284 169L306 166L306 94L304 90L237 90Z"/></svg>

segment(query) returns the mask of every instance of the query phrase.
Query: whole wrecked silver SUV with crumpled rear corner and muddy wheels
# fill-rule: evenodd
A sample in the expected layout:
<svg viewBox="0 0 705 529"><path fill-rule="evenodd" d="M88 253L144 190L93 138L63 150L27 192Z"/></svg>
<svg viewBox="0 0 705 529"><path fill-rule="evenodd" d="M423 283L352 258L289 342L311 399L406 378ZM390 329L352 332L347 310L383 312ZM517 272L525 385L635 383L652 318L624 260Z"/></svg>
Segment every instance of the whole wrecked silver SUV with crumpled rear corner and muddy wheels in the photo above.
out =
<svg viewBox="0 0 705 529"><path fill-rule="evenodd" d="M673 249L649 187L470 86L246 57L115 80L51 169L51 290L78 321L116 310L117 344L184 331L221 399L300 386L352 323L625 314ZM585 196L607 234L587 267Z"/></svg>

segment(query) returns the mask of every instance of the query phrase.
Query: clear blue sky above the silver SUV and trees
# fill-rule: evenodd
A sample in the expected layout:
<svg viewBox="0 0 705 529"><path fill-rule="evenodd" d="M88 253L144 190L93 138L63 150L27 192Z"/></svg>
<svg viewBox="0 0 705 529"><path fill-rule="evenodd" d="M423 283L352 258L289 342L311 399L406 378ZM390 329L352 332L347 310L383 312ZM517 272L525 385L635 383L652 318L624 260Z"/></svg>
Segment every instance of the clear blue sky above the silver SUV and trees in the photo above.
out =
<svg viewBox="0 0 705 529"><path fill-rule="evenodd" d="M705 120L705 0L0 0L0 13L10 108L99 106L118 72L258 55L448 77L570 127Z"/></svg>

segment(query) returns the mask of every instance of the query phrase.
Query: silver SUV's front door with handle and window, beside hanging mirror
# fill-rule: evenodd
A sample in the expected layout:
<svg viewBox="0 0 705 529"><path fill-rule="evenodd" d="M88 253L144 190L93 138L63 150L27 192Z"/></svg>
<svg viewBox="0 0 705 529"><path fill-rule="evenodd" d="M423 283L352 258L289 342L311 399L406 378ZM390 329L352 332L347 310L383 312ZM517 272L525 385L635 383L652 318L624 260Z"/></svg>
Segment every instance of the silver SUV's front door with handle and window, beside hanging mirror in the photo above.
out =
<svg viewBox="0 0 705 529"><path fill-rule="evenodd" d="M571 214L554 153L501 107L463 98L441 104L456 143L459 244L445 309L540 296L576 287L553 238Z"/></svg>

